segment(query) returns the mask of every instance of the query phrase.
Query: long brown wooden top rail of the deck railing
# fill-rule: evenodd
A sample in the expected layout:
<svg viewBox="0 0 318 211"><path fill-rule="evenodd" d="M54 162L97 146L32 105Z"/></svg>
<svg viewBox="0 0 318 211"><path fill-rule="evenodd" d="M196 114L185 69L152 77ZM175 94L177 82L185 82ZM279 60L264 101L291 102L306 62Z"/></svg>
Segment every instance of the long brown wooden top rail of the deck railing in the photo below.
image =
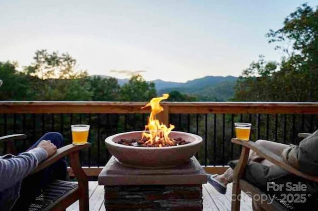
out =
<svg viewBox="0 0 318 211"><path fill-rule="evenodd" d="M0 101L0 113L149 113L146 102ZM162 102L167 113L318 114L318 103Z"/></svg>

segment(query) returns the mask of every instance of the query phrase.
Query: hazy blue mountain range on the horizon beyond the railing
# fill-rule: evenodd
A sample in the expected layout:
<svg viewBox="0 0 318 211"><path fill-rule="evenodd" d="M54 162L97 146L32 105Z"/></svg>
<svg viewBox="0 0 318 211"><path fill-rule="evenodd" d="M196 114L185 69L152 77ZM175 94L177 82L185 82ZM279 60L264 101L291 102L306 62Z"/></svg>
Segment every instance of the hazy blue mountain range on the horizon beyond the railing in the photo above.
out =
<svg viewBox="0 0 318 211"><path fill-rule="evenodd" d="M106 75L98 76L102 78L109 77ZM228 101L233 97L237 79L234 76L205 76L189 80L185 83L163 81L160 79L150 82L155 83L158 95L178 91L183 94L197 96L200 101ZM118 84L122 86L128 81L129 79L118 79Z"/></svg>

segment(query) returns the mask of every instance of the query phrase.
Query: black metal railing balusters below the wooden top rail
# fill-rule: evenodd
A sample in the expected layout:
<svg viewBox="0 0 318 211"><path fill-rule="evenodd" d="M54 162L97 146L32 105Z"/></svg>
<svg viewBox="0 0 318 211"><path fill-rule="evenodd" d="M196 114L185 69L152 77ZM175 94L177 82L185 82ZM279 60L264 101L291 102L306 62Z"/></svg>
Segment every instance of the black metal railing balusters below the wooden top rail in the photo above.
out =
<svg viewBox="0 0 318 211"><path fill-rule="evenodd" d="M189 103L190 104L190 103ZM317 110L318 111L318 110ZM69 113L71 112L71 113ZM0 136L24 133L27 140L16 141L18 152L23 152L44 133L60 132L65 143L72 143L71 125L89 124L88 141L91 148L80 153L83 166L104 166L110 158L104 139L110 135L135 130L144 130L148 113L31 113L6 112L0 114ZM306 110L304 111L306 112ZM311 111L312 113L312 111ZM313 132L317 129L317 114L295 113L168 113L169 123L175 130L198 134L203 144L196 157L202 165L227 165L231 159L239 158L240 149L231 143L235 136L234 122L250 122L251 140L265 139L280 143L298 144L299 132ZM0 144L0 153L3 153Z"/></svg>

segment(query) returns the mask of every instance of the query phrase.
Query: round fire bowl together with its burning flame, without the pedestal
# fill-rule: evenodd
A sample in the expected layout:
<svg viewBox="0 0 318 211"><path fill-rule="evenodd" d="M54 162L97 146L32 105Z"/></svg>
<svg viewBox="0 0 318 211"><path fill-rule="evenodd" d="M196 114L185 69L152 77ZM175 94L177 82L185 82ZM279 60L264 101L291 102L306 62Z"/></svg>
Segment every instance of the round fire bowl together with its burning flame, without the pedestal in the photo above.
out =
<svg viewBox="0 0 318 211"><path fill-rule="evenodd" d="M168 97L168 94L163 94L144 106L152 108L145 131L120 133L105 139L108 151L123 165L137 168L173 167L186 163L198 152L202 143L200 136L171 132L174 125L167 127L156 119L156 114L163 111L160 101Z"/></svg>

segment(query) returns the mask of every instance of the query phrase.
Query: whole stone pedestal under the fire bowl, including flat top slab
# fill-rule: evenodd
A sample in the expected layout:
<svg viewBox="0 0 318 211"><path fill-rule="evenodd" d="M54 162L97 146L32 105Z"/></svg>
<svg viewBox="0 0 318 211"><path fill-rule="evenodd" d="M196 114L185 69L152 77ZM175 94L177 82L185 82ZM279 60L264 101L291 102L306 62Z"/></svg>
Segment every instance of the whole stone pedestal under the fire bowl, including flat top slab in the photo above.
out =
<svg viewBox="0 0 318 211"><path fill-rule="evenodd" d="M195 157L165 169L127 167L112 157L98 176L107 211L202 211L206 182L207 174Z"/></svg>

